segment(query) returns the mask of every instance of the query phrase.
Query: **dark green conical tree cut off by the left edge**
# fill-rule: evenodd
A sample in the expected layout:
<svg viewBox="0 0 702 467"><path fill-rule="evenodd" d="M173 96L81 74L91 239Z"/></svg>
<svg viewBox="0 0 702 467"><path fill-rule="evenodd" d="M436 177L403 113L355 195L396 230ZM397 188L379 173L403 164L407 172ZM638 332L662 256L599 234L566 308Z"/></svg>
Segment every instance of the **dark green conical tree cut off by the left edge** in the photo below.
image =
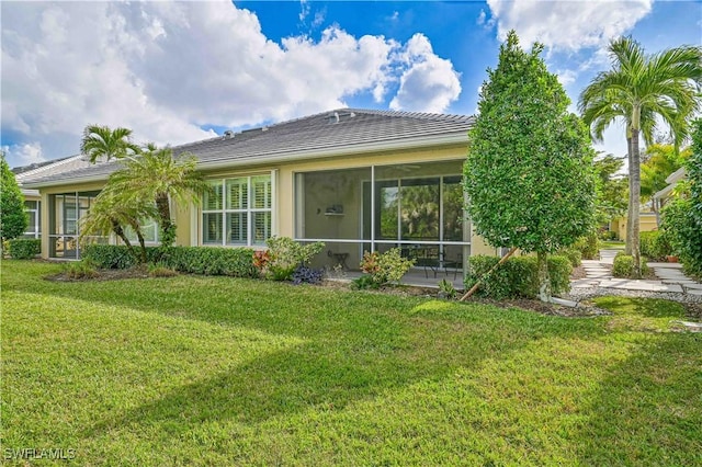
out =
<svg viewBox="0 0 702 467"><path fill-rule="evenodd" d="M29 218L24 210L24 196L0 152L0 240L20 237L26 231Z"/></svg>

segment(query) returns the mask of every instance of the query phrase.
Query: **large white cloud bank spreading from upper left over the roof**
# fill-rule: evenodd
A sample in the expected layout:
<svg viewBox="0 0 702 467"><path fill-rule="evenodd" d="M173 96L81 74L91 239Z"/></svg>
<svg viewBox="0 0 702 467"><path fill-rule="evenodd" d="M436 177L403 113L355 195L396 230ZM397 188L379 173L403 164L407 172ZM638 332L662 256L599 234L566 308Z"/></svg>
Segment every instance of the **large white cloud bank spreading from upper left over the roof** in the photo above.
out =
<svg viewBox="0 0 702 467"><path fill-rule="evenodd" d="M212 136L202 126L280 121L361 93L383 102L397 82L397 109L443 111L461 91L423 36L403 45L331 26L278 44L225 0L2 4L3 139L48 159L77 152L87 124L180 144Z"/></svg>

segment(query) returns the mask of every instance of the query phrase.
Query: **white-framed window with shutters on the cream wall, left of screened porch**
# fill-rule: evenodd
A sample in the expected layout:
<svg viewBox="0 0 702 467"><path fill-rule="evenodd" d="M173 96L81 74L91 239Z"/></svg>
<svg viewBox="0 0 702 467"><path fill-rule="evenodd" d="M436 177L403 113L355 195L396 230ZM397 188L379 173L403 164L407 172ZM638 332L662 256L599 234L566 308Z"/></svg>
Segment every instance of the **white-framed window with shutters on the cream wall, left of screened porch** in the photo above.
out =
<svg viewBox="0 0 702 467"><path fill-rule="evenodd" d="M263 246L272 234L271 175L212 181L203 197L202 242Z"/></svg>

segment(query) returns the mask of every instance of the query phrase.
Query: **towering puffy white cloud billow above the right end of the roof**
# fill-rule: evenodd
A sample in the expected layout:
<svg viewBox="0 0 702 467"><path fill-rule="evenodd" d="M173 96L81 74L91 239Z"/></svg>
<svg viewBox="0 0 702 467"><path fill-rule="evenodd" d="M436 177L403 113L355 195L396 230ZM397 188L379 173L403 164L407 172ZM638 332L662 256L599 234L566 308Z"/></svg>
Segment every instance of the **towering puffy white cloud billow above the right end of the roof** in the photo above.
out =
<svg viewBox="0 0 702 467"><path fill-rule="evenodd" d="M424 35L415 34L399 56L408 68L400 77L390 109L443 112L461 94L458 73L451 61L434 55Z"/></svg>

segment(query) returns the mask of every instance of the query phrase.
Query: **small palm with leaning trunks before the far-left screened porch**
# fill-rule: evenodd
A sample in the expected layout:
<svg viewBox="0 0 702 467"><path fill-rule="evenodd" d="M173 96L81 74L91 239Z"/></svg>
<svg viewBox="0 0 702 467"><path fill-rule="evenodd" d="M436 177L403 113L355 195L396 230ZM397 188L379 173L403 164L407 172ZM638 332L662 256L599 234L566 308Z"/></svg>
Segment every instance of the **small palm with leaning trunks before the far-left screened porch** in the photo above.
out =
<svg viewBox="0 0 702 467"><path fill-rule="evenodd" d="M100 192L94 203L84 217L81 217L79 241L84 241L87 237L104 236L113 231L127 247L127 250L137 258L140 263L146 263L146 242L139 221L156 215L148 203L125 204L116 193L107 185ZM140 247L140 254L137 255L134 247L127 237L124 226L131 227L137 236Z"/></svg>

